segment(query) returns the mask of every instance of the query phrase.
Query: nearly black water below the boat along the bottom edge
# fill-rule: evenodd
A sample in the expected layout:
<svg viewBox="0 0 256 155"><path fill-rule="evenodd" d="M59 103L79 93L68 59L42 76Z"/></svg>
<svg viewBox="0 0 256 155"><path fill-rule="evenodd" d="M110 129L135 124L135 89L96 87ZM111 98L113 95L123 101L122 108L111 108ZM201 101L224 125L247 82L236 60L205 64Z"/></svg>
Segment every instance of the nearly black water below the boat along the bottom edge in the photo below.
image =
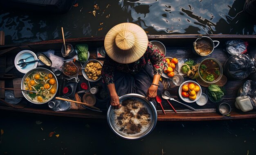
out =
<svg viewBox="0 0 256 155"><path fill-rule="evenodd" d="M256 153L256 119L157 122L141 140L117 137L106 120L0 111L0 154L250 155ZM38 124L36 121L42 122ZM49 133L54 135L49 137ZM59 137L56 138L56 134Z"/></svg>

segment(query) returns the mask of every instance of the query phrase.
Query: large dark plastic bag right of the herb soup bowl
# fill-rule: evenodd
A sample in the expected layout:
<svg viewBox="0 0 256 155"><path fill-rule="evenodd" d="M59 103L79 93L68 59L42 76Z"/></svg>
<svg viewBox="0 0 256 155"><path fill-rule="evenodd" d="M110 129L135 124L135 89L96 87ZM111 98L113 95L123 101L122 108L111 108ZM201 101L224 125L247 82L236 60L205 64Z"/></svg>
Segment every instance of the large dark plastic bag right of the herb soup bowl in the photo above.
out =
<svg viewBox="0 0 256 155"><path fill-rule="evenodd" d="M224 63L223 71L230 80L239 81L255 72L254 62L248 55L232 55Z"/></svg>

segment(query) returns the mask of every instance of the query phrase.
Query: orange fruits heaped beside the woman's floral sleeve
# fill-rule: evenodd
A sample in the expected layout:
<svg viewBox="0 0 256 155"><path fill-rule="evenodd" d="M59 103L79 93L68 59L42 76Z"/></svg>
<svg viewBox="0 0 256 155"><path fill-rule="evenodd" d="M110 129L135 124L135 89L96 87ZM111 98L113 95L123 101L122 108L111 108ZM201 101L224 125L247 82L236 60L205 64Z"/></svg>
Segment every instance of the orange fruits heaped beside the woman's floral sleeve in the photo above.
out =
<svg viewBox="0 0 256 155"><path fill-rule="evenodd" d="M167 63L168 63L168 69L165 70L162 74L162 76L166 79L171 79L174 75L176 75L178 72L178 59L172 58L172 57L165 57Z"/></svg>

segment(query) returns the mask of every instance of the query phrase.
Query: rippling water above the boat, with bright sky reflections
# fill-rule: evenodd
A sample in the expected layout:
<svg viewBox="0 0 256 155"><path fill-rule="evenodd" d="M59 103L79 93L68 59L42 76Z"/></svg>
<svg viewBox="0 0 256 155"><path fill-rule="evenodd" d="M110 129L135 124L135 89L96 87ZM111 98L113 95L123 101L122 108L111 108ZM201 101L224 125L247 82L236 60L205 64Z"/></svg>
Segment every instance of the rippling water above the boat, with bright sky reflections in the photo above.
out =
<svg viewBox="0 0 256 155"><path fill-rule="evenodd" d="M0 10L6 44L105 36L121 22L156 34L256 34L256 20L243 11L244 0L77 0L63 15ZM95 16L94 4L99 9Z"/></svg>

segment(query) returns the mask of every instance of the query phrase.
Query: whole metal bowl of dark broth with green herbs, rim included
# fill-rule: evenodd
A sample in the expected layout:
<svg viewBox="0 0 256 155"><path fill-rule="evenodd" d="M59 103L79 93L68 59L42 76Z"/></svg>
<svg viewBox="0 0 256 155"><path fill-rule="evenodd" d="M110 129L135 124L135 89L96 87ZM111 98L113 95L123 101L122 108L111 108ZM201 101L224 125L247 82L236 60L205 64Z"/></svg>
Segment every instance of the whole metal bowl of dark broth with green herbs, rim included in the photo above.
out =
<svg viewBox="0 0 256 155"><path fill-rule="evenodd" d="M204 59L198 66L199 77L205 83L218 82L223 74L221 63L214 58Z"/></svg>

